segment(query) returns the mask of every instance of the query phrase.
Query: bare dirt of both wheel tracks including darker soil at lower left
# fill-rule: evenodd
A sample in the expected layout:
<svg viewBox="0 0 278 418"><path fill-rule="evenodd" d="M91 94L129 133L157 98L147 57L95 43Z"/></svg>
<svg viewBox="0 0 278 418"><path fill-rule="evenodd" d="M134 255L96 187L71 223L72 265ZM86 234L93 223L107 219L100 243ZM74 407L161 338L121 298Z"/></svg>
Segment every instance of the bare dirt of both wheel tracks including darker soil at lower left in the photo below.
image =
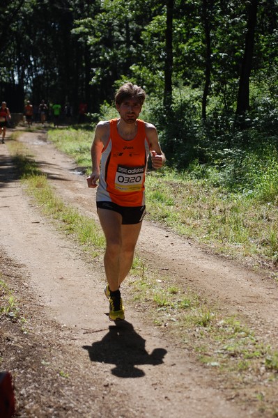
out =
<svg viewBox="0 0 278 418"><path fill-rule="evenodd" d="M20 141L57 194L97 219L95 191L45 132L23 132ZM13 376L17 417L274 417L273 385L264 387L271 408L261 412L264 395L258 388L254 397L256 383L239 389L202 366L140 306L125 303L126 321L109 322L102 263L86 259L33 206L6 145L0 148L0 196L0 279L13 289L25 319L0 317L0 364ZM268 271L213 256L148 221L137 251L150 270L190 286L277 345L278 288ZM129 302L132 288L123 286L122 295Z"/></svg>

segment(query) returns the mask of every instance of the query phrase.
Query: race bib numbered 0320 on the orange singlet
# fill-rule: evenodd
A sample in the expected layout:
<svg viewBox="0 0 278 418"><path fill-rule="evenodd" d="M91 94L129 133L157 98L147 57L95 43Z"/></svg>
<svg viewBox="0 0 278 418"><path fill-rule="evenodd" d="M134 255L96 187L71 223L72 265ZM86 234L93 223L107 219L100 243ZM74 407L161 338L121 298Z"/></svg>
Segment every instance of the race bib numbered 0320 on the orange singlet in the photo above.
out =
<svg viewBox="0 0 278 418"><path fill-rule="evenodd" d="M115 189L119 192L139 192L144 181L144 166L126 167L118 165Z"/></svg>

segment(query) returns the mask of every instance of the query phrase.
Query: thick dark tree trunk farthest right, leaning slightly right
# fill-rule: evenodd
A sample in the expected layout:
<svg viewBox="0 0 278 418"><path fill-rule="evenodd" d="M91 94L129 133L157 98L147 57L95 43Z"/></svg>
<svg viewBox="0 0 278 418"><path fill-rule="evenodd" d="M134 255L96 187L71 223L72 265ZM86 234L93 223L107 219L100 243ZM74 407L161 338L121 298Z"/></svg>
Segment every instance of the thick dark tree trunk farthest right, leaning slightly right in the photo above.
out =
<svg viewBox="0 0 278 418"><path fill-rule="evenodd" d="M249 110L249 78L252 69L257 10L258 0L250 0L247 5L245 52L242 59L240 82L238 86L238 103L236 109L236 114L238 115L244 114L245 111Z"/></svg>

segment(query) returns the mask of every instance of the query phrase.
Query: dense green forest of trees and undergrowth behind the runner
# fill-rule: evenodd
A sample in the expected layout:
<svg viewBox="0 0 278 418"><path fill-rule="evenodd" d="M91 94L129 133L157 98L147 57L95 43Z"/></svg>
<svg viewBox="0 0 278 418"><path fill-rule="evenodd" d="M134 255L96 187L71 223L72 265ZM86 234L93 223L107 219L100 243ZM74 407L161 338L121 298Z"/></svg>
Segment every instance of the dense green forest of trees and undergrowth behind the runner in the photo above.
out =
<svg viewBox="0 0 278 418"><path fill-rule="evenodd" d="M10 111L84 100L95 123L131 81L174 169L252 189L247 165L276 164L277 0L1 0L0 12Z"/></svg>

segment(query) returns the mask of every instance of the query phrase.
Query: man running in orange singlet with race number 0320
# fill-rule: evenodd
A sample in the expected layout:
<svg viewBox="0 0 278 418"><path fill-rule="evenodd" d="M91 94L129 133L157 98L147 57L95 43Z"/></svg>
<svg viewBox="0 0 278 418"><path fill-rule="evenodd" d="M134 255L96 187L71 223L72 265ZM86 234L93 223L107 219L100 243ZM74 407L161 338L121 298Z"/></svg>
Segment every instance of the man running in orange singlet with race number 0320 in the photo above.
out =
<svg viewBox="0 0 278 418"><path fill-rule="evenodd" d="M110 320L125 318L120 286L132 267L146 213L148 157L154 169L165 164L155 126L139 120L145 97L141 87L123 84L115 95L119 117L98 123L91 146L93 169L87 182L88 187L98 186L96 203L106 239L105 295Z"/></svg>

